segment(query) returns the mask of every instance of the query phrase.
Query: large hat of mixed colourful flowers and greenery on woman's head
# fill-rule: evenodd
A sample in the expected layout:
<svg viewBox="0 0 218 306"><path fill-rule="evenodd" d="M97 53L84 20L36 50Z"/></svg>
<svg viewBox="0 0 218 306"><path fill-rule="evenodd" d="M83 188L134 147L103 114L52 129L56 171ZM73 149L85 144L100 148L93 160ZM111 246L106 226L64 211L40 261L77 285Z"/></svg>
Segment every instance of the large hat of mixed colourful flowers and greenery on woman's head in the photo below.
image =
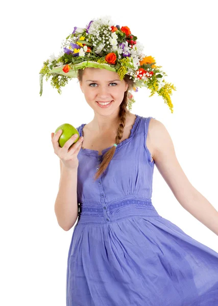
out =
<svg viewBox="0 0 218 306"><path fill-rule="evenodd" d="M77 78L77 70L86 67L94 67L116 71L120 80L125 74L130 75L135 86L147 87L151 90L151 96L156 92L162 96L173 113L171 101L172 90L176 90L173 84L165 82L165 72L160 70L162 66L156 66L152 56L142 53L143 45L136 41L127 26L114 25L110 16L91 20L85 28L75 27L74 31L62 41L63 51L58 57L54 53L39 72L40 74L40 96L42 95L42 82L51 79L51 85L61 94L68 80ZM132 93L128 96L128 109L132 109L135 103Z"/></svg>

